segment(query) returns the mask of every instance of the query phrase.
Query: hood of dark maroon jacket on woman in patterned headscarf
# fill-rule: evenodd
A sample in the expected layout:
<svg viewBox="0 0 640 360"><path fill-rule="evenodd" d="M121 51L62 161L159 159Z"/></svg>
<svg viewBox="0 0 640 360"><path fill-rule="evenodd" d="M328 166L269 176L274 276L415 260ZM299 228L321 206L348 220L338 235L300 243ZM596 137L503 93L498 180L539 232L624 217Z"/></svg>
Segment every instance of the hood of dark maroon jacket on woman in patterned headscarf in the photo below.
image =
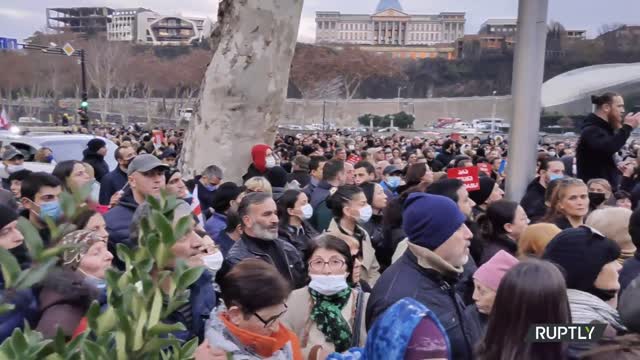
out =
<svg viewBox="0 0 640 360"><path fill-rule="evenodd" d="M97 288L85 282L82 274L62 268L52 270L41 282L41 286L41 309L56 303L76 303L89 307L100 295Z"/></svg>

